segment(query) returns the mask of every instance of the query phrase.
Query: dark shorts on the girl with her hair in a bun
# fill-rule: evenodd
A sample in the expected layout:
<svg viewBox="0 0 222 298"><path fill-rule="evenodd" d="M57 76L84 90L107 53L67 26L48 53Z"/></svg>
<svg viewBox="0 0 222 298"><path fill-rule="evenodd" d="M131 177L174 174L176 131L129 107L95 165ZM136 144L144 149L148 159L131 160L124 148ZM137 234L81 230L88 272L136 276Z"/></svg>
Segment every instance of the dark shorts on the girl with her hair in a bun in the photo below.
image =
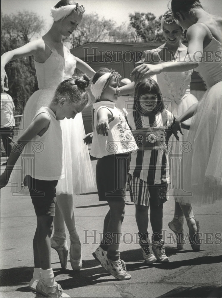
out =
<svg viewBox="0 0 222 298"><path fill-rule="evenodd" d="M58 180L38 180L26 175L27 187L36 216L55 216L56 185Z"/></svg>

